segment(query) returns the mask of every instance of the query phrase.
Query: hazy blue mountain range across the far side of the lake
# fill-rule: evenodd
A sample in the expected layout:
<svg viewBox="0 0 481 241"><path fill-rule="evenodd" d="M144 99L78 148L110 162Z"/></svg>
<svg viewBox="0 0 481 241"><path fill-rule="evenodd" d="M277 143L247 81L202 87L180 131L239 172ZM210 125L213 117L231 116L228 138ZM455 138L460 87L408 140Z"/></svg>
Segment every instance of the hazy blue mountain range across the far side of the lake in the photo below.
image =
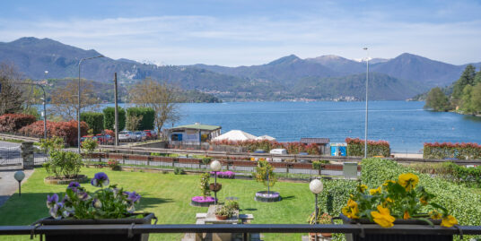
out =
<svg viewBox="0 0 481 241"><path fill-rule="evenodd" d="M78 76L84 57L100 56L53 39L22 38L0 42L0 62L12 63L31 79ZM477 67L481 63L474 64ZM466 65L450 65L423 56L402 54L370 60L370 99L409 99L434 86L459 79ZM148 65L126 58L103 57L82 64L82 78L119 82L128 87L146 77L169 82L183 90L199 90L224 100L347 99L365 95L365 62L341 56L302 59L284 56L265 65Z"/></svg>

